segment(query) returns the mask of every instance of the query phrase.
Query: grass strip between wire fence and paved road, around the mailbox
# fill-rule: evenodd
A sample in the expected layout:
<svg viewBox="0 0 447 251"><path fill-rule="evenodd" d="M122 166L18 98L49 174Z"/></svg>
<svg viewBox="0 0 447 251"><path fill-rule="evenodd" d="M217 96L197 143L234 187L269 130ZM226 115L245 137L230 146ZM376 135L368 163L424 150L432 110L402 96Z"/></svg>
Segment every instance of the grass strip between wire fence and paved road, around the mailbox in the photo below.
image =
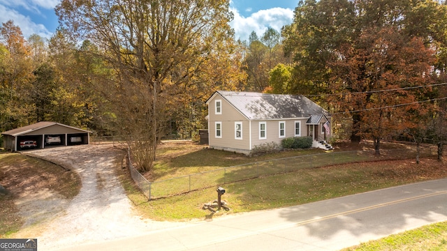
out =
<svg viewBox="0 0 447 251"><path fill-rule="evenodd" d="M245 171L241 170L241 172ZM121 170L120 172L127 171ZM447 167L432 158L424 158L420 165L416 165L412 160L388 160L298 169L286 174L265 174L259 178L250 178L225 185L220 183L212 185L210 188L151 201L147 201L135 188L129 175L122 173L121 176L126 180L129 197L147 218L188 220L210 216L210 211L203 211L202 206L216 199L217 185L226 188L227 192L223 199L230 204L231 211L228 213L240 213L294 206L431 178L446 177ZM157 190L156 184L153 184L154 192ZM187 186L187 178L182 184ZM164 185L169 187L174 184L165 183Z"/></svg>

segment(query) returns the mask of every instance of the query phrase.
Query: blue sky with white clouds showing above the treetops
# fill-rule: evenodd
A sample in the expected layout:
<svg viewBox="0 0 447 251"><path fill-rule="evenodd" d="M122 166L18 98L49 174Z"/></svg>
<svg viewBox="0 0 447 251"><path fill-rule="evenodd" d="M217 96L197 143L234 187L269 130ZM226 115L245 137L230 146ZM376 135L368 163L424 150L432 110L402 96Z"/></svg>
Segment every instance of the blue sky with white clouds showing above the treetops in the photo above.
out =
<svg viewBox="0 0 447 251"><path fill-rule="evenodd" d="M54 6L60 0L0 0L0 22L13 20L25 38L36 33L50 38L57 28ZM281 30L293 20L293 10L299 0L232 0L230 9L236 38L247 40L251 31L261 36L268 26Z"/></svg>

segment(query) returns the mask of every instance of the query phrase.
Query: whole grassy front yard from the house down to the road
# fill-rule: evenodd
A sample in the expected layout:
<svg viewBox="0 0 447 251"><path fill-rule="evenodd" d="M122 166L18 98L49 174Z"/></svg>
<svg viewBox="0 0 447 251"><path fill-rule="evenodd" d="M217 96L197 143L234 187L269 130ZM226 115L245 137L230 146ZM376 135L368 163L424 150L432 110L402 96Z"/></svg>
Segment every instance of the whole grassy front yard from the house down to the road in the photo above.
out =
<svg viewBox="0 0 447 251"><path fill-rule="evenodd" d="M402 146L384 146L389 150L382 151L379 157L367 151L317 154L323 151L316 149L247 157L204 149L191 142L166 144L159 148L154 170L147 177L149 181L156 181L151 187L152 198L161 199L149 202L133 182L128 181L129 175L121 176L137 208L147 218L156 220L209 217L210 212L203 211L202 206L216 199L218 185L227 190L223 199L230 204L230 213L239 213L305 204L446 176L446 167L432 159L424 159L425 165L416 165L411 160L383 162L381 160L408 157L409 153L408 149L394 151ZM360 146L360 149L365 148L365 145ZM281 160L270 161L278 158ZM367 160L374 162L365 162ZM223 169L230 166L235 167ZM193 191L187 192L189 190Z"/></svg>

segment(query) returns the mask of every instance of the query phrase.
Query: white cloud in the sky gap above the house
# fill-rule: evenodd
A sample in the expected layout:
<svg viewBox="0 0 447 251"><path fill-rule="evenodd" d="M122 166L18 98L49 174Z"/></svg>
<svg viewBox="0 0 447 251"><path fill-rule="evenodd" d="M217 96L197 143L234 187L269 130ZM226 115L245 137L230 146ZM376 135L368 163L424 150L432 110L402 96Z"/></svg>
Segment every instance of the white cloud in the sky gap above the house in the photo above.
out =
<svg viewBox="0 0 447 251"><path fill-rule="evenodd" d="M270 26L277 31L281 31L282 26L293 22L293 10L289 8L271 8L259 10L249 17L244 17L235 8L230 8L234 14L230 26L235 30L236 39L248 40L251 31L255 31L259 37Z"/></svg>

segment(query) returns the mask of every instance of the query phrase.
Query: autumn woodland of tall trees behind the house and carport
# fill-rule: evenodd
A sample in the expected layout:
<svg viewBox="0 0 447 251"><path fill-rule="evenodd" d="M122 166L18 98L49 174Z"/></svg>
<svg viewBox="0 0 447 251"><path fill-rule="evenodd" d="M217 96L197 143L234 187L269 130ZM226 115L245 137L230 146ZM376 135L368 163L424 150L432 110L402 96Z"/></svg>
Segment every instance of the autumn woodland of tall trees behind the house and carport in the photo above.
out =
<svg viewBox="0 0 447 251"><path fill-rule="evenodd" d="M293 23L236 40L228 0L62 0L50 39L0 27L0 131L38 121L126 139L149 170L163 138L207 127L214 91L305 95L335 139L447 137L447 5L299 1ZM0 138L1 140L1 138Z"/></svg>

